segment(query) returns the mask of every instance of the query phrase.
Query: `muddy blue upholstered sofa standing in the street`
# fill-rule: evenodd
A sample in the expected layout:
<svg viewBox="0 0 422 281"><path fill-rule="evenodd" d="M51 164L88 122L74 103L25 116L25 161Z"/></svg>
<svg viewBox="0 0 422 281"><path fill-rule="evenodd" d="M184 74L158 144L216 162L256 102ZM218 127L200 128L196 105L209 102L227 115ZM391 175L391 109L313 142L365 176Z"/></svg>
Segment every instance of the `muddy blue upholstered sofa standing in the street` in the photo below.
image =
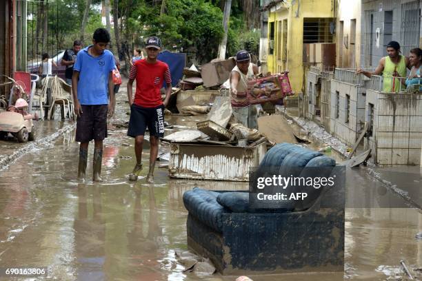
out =
<svg viewBox="0 0 422 281"><path fill-rule="evenodd" d="M265 165L279 165L280 172L288 173L283 167L336 163L284 143L270 149L261 163ZM287 203L265 210L250 208L247 191L186 191L188 247L210 258L225 275L343 271L344 186L318 192L299 207Z"/></svg>

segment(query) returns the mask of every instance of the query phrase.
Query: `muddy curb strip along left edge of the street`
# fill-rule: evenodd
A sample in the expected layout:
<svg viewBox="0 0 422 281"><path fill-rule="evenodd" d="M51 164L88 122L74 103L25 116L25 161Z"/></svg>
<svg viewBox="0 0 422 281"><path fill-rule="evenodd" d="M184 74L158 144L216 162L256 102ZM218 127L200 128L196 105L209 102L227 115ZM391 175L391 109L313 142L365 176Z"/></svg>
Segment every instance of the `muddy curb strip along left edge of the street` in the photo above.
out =
<svg viewBox="0 0 422 281"><path fill-rule="evenodd" d="M65 127L57 130L54 134L50 134L49 136L46 136L44 138L40 138L37 141L31 141L28 142L26 145L18 149L13 154L10 154L8 156L5 156L3 158L0 158L0 171L4 171L8 169L9 165L14 162L14 160L17 160L24 154L27 154L31 151L31 149L34 149L35 147L39 147L40 145L46 144L46 143L52 143L52 141L59 138L59 136L62 136L63 134L66 134L67 132L70 132L72 129L76 127L76 123L72 123L69 125L66 125Z"/></svg>

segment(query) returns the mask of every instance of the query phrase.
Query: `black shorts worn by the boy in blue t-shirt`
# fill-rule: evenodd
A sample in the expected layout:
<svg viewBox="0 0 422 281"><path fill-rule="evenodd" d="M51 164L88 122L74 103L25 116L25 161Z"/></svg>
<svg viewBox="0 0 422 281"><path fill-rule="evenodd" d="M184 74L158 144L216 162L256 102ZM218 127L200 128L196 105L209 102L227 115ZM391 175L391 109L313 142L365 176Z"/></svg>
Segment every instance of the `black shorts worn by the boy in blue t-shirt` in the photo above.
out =
<svg viewBox="0 0 422 281"><path fill-rule="evenodd" d="M76 141L89 143L107 138L108 105L81 105L82 114L77 118Z"/></svg>

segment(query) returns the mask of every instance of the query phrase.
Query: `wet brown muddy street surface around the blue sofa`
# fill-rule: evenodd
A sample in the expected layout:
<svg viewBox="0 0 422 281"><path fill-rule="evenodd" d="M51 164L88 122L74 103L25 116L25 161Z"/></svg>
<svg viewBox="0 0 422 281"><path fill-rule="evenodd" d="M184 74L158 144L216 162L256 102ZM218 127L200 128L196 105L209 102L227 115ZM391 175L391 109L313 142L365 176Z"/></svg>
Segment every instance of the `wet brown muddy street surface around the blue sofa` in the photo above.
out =
<svg viewBox="0 0 422 281"><path fill-rule="evenodd" d="M111 123L128 120L125 92L118 94L117 103ZM165 134L201 120L203 116L166 116L174 127ZM153 185L145 183L148 169L136 183L130 182L133 140L125 136L125 128L111 129L103 152L102 183L90 180L91 165L86 182L77 180L79 145L73 130L50 145L32 147L0 171L0 267L48 267L45 279L55 280L234 280L183 272L175 257L176 252L188 251L188 212L182 196L196 186L247 190L248 183L174 180L168 178L168 169L158 167L159 161ZM92 150L91 144L88 163ZM160 153L167 151L161 144ZM144 167L148 157L147 143ZM421 180L419 171L406 172ZM251 276L253 280L405 280L399 279L404 278L400 260L410 268L422 266L422 240L415 238L422 231L421 210L407 207L403 198L361 169L349 170L346 183L344 274L257 275Z"/></svg>

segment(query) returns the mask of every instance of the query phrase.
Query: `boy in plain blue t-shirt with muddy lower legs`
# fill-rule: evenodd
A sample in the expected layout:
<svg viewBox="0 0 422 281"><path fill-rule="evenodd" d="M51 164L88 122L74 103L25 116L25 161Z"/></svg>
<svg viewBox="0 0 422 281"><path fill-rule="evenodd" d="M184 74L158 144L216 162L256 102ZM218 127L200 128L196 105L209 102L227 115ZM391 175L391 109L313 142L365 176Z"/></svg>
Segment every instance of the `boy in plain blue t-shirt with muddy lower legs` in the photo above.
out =
<svg viewBox="0 0 422 281"><path fill-rule="evenodd" d="M73 66L72 92L74 114L77 116L76 141L79 146L78 178L84 178L88 160L88 145L94 140L93 177L101 180L103 139L107 137L107 115L114 113L114 56L106 50L110 34L104 28L94 32L92 45L77 54ZM110 95L110 104L108 103Z"/></svg>

